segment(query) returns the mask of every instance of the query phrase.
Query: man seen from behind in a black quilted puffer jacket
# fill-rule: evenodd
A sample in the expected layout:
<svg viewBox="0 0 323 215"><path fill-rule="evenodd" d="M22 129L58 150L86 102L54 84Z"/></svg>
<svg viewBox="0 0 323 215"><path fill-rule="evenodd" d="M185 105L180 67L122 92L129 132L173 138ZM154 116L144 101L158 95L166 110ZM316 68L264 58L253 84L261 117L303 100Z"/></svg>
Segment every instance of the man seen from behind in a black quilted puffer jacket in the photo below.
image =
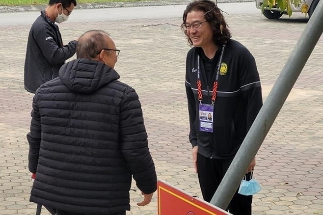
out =
<svg viewBox="0 0 323 215"><path fill-rule="evenodd" d="M132 176L149 204L157 189L141 105L113 69L119 50L101 30L84 33L77 58L33 98L30 201L57 215L125 215Z"/></svg>

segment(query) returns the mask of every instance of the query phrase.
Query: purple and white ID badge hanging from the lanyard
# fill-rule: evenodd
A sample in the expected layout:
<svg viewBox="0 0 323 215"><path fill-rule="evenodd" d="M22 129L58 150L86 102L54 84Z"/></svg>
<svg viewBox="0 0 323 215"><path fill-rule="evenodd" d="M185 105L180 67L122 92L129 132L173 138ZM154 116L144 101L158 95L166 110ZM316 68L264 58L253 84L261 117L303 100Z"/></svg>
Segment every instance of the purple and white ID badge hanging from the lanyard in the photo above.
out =
<svg viewBox="0 0 323 215"><path fill-rule="evenodd" d="M200 104L200 131L213 132L213 110L212 105Z"/></svg>

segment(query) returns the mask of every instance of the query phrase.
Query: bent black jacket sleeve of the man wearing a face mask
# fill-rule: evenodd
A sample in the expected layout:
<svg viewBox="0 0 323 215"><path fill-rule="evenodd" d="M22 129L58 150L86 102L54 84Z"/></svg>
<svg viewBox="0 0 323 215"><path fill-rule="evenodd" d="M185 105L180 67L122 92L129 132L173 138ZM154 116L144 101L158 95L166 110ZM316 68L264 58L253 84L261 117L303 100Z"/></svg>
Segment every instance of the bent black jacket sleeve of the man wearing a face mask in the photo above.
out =
<svg viewBox="0 0 323 215"><path fill-rule="evenodd" d="M72 57L76 52L76 40L69 42L68 45L60 47L54 40L56 37L55 33L48 27L43 27L35 31L33 36L46 60L51 65L63 63L65 60Z"/></svg>

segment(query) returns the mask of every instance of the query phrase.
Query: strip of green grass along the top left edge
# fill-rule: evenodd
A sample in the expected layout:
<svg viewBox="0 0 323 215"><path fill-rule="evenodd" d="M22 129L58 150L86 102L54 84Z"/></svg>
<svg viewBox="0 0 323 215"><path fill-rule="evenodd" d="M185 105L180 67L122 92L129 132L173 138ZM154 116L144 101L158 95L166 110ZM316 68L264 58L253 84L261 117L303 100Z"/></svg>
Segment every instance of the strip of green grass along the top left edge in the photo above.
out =
<svg viewBox="0 0 323 215"><path fill-rule="evenodd" d="M129 2L141 0L77 0L78 3ZM0 0L0 6L48 4L49 0Z"/></svg>

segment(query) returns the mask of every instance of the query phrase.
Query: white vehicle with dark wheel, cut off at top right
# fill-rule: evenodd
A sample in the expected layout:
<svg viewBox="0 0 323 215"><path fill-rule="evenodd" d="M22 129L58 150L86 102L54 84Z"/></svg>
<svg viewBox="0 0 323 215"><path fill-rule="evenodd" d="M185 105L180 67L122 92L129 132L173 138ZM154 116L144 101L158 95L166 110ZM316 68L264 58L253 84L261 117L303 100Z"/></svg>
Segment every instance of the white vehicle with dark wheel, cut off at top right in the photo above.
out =
<svg viewBox="0 0 323 215"><path fill-rule="evenodd" d="M263 5L264 0L256 0L256 7L261 9L261 6ZM301 0L301 3L299 3L297 6L295 6L293 3L291 3L292 11L293 13L295 12L301 12L301 7L302 4L307 3L308 5L308 16L311 18L314 9L319 3L319 0ZM280 12L280 8L277 7L277 4L274 4L271 8L269 7L264 8L263 12L264 16L267 17L268 19L279 19L283 14L287 14L287 10L283 11L282 13Z"/></svg>

